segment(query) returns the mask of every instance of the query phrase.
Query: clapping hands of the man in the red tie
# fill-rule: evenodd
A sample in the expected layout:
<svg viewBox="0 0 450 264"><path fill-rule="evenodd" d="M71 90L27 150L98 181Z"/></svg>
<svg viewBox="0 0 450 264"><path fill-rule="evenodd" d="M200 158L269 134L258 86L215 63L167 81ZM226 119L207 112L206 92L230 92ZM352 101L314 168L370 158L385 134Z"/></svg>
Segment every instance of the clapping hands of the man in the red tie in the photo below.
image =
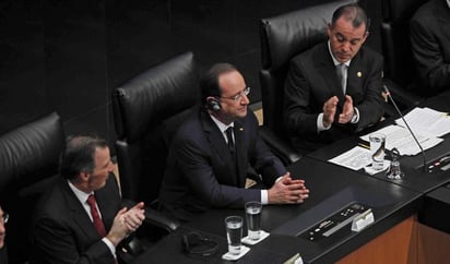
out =
<svg viewBox="0 0 450 264"><path fill-rule="evenodd" d="M120 209L114 218L111 229L106 238L117 247L129 233L135 231L144 220L144 203L138 203L131 209Z"/></svg>

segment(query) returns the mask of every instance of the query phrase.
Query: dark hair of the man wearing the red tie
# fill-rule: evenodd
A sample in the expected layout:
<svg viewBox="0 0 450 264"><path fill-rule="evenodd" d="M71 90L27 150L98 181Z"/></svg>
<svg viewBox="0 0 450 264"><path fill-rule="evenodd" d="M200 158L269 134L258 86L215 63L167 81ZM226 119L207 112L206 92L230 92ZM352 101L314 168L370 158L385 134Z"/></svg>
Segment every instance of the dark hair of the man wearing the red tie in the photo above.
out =
<svg viewBox="0 0 450 264"><path fill-rule="evenodd" d="M108 143L95 135L68 136L66 149L61 154L59 172L64 179L74 179L81 172L95 169L95 151L107 147Z"/></svg>

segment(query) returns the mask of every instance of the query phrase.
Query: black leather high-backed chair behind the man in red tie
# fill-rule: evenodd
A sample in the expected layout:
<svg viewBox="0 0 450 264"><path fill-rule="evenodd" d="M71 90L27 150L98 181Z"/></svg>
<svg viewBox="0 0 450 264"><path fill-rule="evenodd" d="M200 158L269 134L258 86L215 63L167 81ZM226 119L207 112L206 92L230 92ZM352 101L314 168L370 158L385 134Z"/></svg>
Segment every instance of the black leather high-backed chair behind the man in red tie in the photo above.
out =
<svg viewBox="0 0 450 264"><path fill-rule="evenodd" d="M10 263L28 261L35 204L58 177L64 133L56 112L0 135L0 203L10 214L7 245Z"/></svg>

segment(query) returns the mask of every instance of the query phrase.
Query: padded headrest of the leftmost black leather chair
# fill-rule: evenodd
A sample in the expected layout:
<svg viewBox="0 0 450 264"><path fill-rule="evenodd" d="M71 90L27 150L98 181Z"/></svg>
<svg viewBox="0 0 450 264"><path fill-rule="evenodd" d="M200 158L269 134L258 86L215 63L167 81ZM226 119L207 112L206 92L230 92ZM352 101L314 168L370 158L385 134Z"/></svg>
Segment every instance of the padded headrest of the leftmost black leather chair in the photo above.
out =
<svg viewBox="0 0 450 264"><path fill-rule="evenodd" d="M11 182L28 185L55 176L63 146L64 133L56 112L1 135L0 193Z"/></svg>

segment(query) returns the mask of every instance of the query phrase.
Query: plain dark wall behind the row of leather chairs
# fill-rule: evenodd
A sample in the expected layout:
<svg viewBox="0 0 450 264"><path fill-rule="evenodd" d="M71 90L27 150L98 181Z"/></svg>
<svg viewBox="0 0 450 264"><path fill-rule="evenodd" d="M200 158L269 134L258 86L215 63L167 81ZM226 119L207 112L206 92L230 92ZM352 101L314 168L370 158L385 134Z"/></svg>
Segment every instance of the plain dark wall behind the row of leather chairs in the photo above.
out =
<svg viewBox="0 0 450 264"><path fill-rule="evenodd" d="M115 87L192 50L235 63L260 100L258 21L327 0L0 0L0 134L57 111L67 134L112 142ZM381 1L360 2L380 51Z"/></svg>

